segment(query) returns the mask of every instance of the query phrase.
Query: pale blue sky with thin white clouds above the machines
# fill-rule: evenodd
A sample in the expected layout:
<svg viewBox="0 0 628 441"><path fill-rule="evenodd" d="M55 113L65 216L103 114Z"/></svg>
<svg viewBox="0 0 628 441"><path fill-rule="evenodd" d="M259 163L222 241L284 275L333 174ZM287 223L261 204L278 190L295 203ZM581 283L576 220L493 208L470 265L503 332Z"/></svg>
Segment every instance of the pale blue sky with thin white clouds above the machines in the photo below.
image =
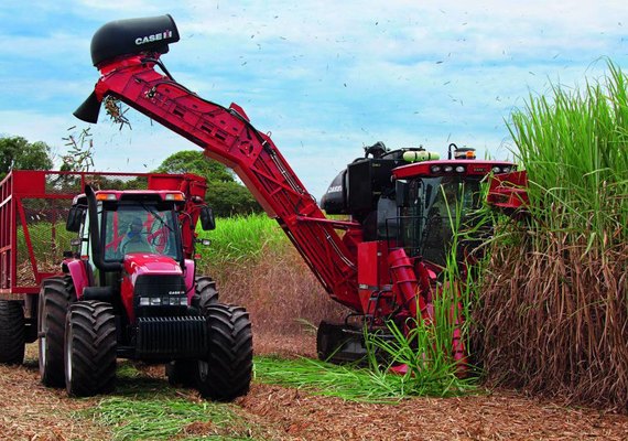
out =
<svg viewBox="0 0 628 441"><path fill-rule="evenodd" d="M628 61L628 3L602 1L15 1L0 6L0 135L65 152L72 112L98 74L89 43L104 23L170 13L164 55L202 97L242 106L317 198L362 147L448 142L502 159L505 120L550 80L566 87ZM101 116L97 170L145 172L197 149L129 110ZM480 153L484 154L484 153Z"/></svg>

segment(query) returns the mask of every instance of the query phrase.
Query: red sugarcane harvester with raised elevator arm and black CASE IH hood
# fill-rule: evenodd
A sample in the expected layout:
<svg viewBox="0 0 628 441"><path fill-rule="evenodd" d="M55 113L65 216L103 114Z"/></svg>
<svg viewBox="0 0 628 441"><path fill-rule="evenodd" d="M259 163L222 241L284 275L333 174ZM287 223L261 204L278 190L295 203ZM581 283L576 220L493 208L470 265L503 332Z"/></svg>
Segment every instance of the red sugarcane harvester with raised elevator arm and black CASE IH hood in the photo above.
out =
<svg viewBox="0 0 628 441"><path fill-rule="evenodd" d="M232 168L329 295L353 311L351 318L383 330L387 321L403 325L408 318L431 320L452 236L445 205L458 202L463 216L478 208L480 182L515 165L478 161L473 151L452 149L455 146L450 159L437 160L421 148L388 151L378 143L342 171L322 200L328 214L350 219L328 219L242 108L203 99L172 78L160 57L178 39L170 15L105 24L91 41L100 78L74 115L96 122L102 100L119 99ZM336 359L359 357L361 334L348 322L323 323L318 353L335 354ZM461 342L452 345L462 361Z"/></svg>

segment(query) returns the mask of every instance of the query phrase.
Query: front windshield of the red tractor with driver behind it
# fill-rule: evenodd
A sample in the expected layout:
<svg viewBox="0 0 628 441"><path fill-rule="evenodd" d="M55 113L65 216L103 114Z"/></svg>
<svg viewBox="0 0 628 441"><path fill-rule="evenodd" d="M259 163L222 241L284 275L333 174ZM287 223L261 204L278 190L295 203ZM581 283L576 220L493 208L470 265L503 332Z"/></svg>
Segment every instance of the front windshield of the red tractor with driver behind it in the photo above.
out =
<svg viewBox="0 0 628 441"><path fill-rule="evenodd" d="M181 259L178 223L172 209L155 205L119 205L105 209L105 260L120 260L131 252L150 252Z"/></svg>

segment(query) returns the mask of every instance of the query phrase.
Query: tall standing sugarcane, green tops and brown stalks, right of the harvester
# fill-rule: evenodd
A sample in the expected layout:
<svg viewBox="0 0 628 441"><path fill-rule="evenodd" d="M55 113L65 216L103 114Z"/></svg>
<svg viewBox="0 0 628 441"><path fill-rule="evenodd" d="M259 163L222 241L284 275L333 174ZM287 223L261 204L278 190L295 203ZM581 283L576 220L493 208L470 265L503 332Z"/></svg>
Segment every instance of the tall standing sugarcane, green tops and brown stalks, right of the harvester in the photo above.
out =
<svg viewBox="0 0 628 441"><path fill-rule="evenodd" d="M509 129L531 217L498 230L477 351L494 381L627 411L626 75L530 96Z"/></svg>

